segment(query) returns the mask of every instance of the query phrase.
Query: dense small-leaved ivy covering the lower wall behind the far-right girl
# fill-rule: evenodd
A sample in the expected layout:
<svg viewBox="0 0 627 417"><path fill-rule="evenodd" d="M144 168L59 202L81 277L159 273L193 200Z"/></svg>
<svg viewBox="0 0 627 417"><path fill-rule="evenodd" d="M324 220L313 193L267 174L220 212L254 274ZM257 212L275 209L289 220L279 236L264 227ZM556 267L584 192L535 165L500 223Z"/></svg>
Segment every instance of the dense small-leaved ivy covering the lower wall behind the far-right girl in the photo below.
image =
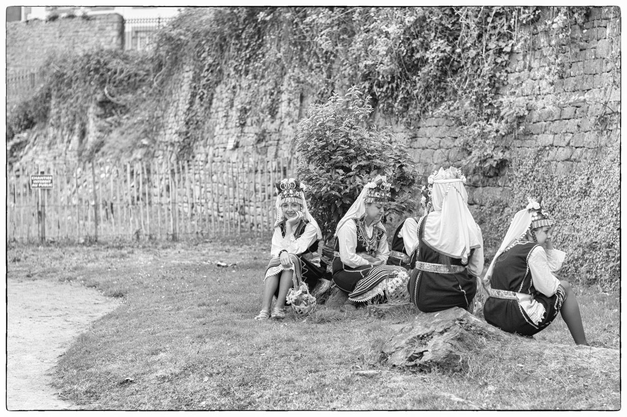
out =
<svg viewBox="0 0 627 417"><path fill-rule="evenodd" d="M509 176L510 197L487 202L485 212L480 213L487 225L483 229L486 245L498 247L527 197L542 196L549 216L556 221L555 245L566 252L557 274L571 283L617 289L621 273L620 152L618 141L608 142L597 158L573 163L568 172L557 171L555 163L547 161L545 148L516 158Z"/></svg>

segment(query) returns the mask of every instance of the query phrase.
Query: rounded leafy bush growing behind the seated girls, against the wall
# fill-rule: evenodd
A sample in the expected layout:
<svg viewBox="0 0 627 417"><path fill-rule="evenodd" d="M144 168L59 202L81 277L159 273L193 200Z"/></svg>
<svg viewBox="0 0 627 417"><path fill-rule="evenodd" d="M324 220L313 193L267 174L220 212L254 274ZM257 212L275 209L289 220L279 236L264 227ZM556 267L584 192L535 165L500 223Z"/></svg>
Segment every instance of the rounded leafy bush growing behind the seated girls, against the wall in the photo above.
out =
<svg viewBox="0 0 627 417"><path fill-rule="evenodd" d="M416 207L414 193L421 175L402 143L387 130L366 127L372 113L370 96L352 87L341 97L312 104L307 118L298 123L298 178L311 187L310 210L328 239L337 222L377 174L392 183L391 212L401 214Z"/></svg>

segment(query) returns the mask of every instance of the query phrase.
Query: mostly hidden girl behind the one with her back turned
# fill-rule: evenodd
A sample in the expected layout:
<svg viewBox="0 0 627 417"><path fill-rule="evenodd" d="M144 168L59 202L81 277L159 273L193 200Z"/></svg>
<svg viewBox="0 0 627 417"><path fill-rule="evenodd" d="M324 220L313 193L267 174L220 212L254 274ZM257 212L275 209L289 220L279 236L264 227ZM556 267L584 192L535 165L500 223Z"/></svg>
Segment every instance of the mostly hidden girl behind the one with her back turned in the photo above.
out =
<svg viewBox="0 0 627 417"><path fill-rule="evenodd" d="M426 187L421 190L421 209L426 214ZM392 248L387 257L387 265L402 266L406 270L416 265L416 248L418 247L419 217L408 217L398 225L392 238Z"/></svg>

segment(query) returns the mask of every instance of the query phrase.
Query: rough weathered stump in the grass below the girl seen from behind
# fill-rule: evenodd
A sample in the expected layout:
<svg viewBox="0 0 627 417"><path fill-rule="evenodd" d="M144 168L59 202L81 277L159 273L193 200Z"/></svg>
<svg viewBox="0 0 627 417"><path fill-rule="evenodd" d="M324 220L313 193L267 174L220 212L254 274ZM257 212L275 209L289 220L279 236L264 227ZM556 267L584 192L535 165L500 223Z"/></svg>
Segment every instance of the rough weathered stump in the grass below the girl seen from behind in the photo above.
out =
<svg viewBox="0 0 627 417"><path fill-rule="evenodd" d="M488 339L522 338L490 326L460 307L423 313L392 328L399 333L376 349L371 362L460 371L462 359L483 348Z"/></svg>

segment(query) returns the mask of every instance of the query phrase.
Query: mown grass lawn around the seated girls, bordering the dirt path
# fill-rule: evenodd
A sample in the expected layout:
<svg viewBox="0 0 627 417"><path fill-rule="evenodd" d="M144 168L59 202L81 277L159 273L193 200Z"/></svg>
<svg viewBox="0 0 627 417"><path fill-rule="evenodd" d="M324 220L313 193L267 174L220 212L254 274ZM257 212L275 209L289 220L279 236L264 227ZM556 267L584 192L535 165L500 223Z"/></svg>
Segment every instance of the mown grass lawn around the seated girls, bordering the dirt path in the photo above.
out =
<svg viewBox="0 0 627 417"><path fill-rule="evenodd" d="M85 409L619 409L619 363L569 363L561 317L492 346L466 370L419 373L364 358L389 317L320 309L305 322L252 319L268 242L9 245L9 279L78 281L124 303L60 358L56 388ZM214 262L236 264L218 267ZM572 281L571 281L572 282ZM574 285L586 336L619 349L619 296ZM546 344L553 348L547 349ZM369 371L364 373L362 371Z"/></svg>

